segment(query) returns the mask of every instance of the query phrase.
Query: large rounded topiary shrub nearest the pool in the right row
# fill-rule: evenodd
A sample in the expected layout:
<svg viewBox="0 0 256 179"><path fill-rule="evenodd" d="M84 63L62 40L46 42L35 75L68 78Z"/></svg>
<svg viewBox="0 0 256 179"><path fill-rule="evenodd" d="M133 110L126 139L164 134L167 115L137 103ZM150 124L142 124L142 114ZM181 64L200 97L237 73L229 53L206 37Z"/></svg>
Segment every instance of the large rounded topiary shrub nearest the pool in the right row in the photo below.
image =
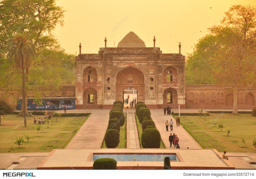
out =
<svg viewBox="0 0 256 179"><path fill-rule="evenodd" d="M143 148L160 148L161 135L157 129L145 129L141 134Z"/></svg>

